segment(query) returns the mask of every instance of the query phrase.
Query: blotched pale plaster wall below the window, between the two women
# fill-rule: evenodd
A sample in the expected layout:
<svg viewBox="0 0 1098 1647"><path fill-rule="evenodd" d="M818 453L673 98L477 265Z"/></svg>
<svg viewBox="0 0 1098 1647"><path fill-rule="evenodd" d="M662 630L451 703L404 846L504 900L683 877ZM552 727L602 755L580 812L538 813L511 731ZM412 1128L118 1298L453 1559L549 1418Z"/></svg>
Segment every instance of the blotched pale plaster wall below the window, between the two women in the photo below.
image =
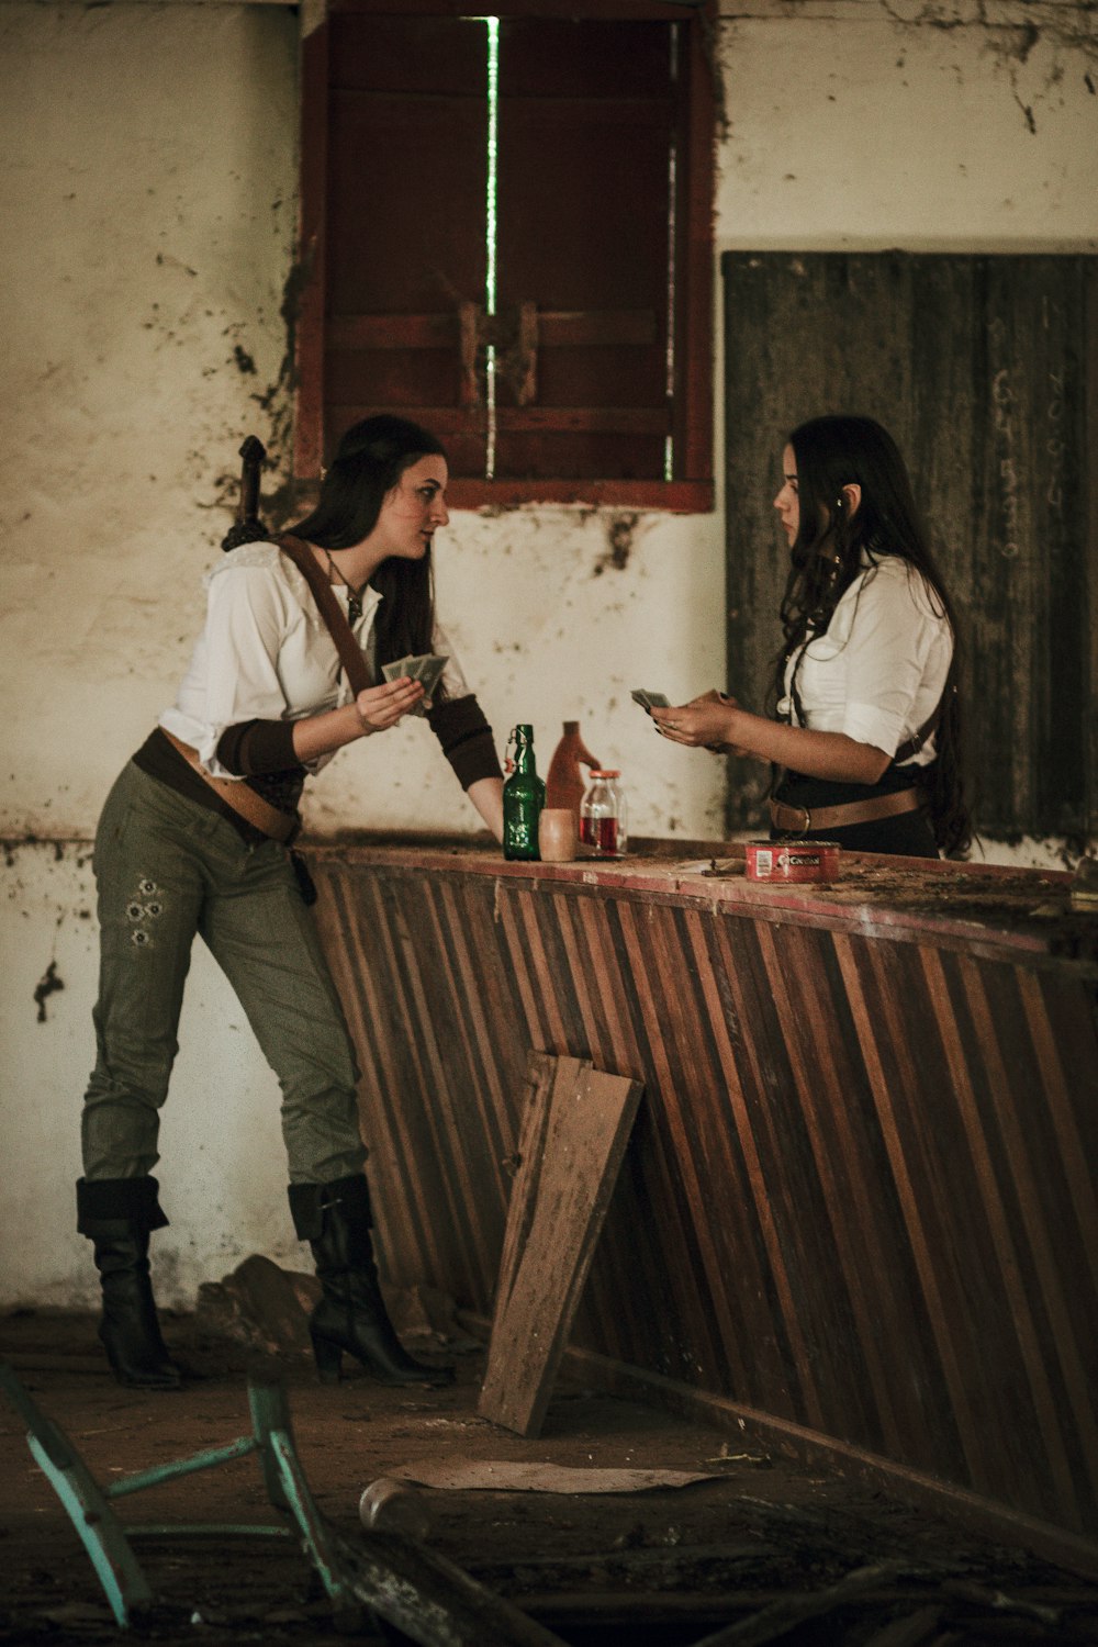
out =
<svg viewBox="0 0 1098 1647"><path fill-rule="evenodd" d="M718 535L716 519L538 509L454 516L438 548L440 609L500 753L514 723L532 721L545 772L561 721L579 720L593 753L622 769L630 827L647 835L723 828L716 761L670 751L629 697L635 685L693 695L721 679ZM423 723L362 756L313 786L314 828L477 827Z"/></svg>

